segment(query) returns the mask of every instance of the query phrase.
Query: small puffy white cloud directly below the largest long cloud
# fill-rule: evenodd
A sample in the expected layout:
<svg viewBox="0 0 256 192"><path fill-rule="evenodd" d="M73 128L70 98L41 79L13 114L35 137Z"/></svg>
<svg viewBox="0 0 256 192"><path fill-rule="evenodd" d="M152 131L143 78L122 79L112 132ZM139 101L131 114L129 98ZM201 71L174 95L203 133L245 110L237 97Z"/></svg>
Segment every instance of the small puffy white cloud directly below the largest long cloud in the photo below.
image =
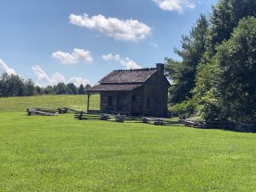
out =
<svg viewBox="0 0 256 192"><path fill-rule="evenodd" d="M67 53L61 50L56 51L52 54L52 57L60 60L63 64L75 64L79 62L91 63L93 62L92 55L89 50L84 49L73 49L73 52Z"/></svg>

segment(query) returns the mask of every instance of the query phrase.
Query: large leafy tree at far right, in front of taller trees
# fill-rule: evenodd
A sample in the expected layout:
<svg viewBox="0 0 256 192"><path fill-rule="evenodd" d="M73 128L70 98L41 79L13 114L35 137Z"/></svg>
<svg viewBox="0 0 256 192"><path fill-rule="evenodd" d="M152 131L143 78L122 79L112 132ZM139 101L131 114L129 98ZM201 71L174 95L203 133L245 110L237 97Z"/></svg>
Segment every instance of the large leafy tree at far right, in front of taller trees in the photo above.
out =
<svg viewBox="0 0 256 192"><path fill-rule="evenodd" d="M194 100L201 117L254 121L255 20L254 17L242 19L230 39L218 46L212 60L198 67Z"/></svg>

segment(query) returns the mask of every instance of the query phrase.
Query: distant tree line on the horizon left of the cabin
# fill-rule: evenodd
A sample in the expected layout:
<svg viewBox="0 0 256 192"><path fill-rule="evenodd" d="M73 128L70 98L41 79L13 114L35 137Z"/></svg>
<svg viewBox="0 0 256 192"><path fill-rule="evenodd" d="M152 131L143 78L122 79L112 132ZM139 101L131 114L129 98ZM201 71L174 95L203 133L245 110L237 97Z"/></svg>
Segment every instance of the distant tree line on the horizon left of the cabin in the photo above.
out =
<svg viewBox="0 0 256 192"><path fill-rule="evenodd" d="M19 75L3 73L0 77L0 96L38 96L38 95L83 95L90 84L59 83L54 86L40 87L32 79L23 79Z"/></svg>

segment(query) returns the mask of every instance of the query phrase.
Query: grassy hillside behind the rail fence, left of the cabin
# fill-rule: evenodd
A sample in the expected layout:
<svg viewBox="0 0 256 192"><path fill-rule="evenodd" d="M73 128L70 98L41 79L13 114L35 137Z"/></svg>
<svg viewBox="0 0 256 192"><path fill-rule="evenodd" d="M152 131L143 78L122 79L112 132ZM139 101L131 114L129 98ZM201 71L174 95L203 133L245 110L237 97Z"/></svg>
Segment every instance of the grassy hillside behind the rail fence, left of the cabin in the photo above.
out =
<svg viewBox="0 0 256 192"><path fill-rule="evenodd" d="M99 109L99 95L90 96L90 109ZM26 108L73 108L86 110L87 96L0 97L0 112L26 111Z"/></svg>

